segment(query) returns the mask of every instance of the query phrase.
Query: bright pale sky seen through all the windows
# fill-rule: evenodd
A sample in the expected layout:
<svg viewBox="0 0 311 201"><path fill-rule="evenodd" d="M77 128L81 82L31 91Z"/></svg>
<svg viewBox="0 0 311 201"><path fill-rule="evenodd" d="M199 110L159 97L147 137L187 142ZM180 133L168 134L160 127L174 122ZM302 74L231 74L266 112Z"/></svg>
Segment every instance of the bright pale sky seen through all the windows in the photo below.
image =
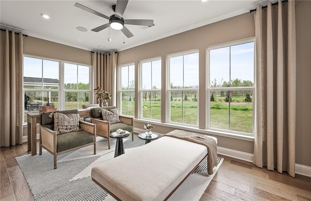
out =
<svg viewBox="0 0 311 201"><path fill-rule="evenodd" d="M231 51L231 57L230 57ZM217 84L231 80L250 80L254 83L254 42L210 50L210 81L216 78ZM231 66L230 66L231 59ZM42 74L43 61L43 74ZM169 82L173 86L193 87L199 85L199 54L170 57ZM59 79L59 62L24 57L24 76ZM89 67L64 64L65 83L89 83ZM121 86L127 87L135 80L135 67L121 68ZM141 68L142 89L161 89L161 60L143 62Z"/></svg>

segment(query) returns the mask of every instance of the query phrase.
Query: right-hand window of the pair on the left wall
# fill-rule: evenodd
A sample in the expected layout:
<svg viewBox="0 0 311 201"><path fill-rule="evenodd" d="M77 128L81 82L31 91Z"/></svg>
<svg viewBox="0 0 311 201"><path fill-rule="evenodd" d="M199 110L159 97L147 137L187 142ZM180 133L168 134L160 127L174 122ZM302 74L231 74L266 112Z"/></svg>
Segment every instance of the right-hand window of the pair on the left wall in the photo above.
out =
<svg viewBox="0 0 311 201"><path fill-rule="evenodd" d="M64 64L65 110L82 109L89 104L89 67Z"/></svg>

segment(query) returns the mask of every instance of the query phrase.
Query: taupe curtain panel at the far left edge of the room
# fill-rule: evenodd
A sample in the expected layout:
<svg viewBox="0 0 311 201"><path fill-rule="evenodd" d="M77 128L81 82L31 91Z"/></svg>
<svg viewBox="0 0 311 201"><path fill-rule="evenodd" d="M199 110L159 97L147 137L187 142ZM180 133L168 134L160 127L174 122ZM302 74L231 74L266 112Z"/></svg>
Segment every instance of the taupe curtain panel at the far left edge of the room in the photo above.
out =
<svg viewBox="0 0 311 201"><path fill-rule="evenodd" d="M23 35L0 31L0 146L22 144Z"/></svg>

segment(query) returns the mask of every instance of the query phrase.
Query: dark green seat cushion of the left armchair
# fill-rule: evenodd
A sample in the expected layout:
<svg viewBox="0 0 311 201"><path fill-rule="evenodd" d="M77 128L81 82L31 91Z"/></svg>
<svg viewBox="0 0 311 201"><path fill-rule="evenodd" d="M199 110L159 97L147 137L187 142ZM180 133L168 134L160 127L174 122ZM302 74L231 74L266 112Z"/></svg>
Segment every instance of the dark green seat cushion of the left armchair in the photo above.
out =
<svg viewBox="0 0 311 201"><path fill-rule="evenodd" d="M94 142L94 135L84 130L57 135L57 152Z"/></svg>

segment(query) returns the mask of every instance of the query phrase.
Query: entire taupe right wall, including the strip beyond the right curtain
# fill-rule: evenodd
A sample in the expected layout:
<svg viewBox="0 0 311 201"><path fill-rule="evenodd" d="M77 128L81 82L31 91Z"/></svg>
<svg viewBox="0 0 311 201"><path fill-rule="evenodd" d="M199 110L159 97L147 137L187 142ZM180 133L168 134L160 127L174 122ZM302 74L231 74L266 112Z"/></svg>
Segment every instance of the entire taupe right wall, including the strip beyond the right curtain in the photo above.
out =
<svg viewBox="0 0 311 201"><path fill-rule="evenodd" d="M297 34L297 111L296 111L296 164L311 166L311 1L298 1L296 4L296 34ZM160 56L162 72L165 71L166 55L199 49L200 94L206 90L206 48L210 45L255 37L253 14L243 14L225 19L204 27L184 32L172 37L163 38L148 44L119 52L118 65L135 63L136 71L139 60ZM163 73L162 73L163 74ZM136 85L138 82L136 83ZM162 88L166 87L162 76ZM136 96L138 93L136 92ZM166 98L165 92L161 97ZM162 101L164 102L164 101ZM206 110L206 97L199 97L200 111ZM165 108L162 103L162 119L165 122ZM135 105L137 107L137 103ZM137 114L136 114L137 117ZM199 127L206 127L205 112L199 114ZM135 121L135 127L143 128L143 123ZM156 126L155 131L167 133L174 128ZM253 153L254 143L222 136L218 145Z"/></svg>

